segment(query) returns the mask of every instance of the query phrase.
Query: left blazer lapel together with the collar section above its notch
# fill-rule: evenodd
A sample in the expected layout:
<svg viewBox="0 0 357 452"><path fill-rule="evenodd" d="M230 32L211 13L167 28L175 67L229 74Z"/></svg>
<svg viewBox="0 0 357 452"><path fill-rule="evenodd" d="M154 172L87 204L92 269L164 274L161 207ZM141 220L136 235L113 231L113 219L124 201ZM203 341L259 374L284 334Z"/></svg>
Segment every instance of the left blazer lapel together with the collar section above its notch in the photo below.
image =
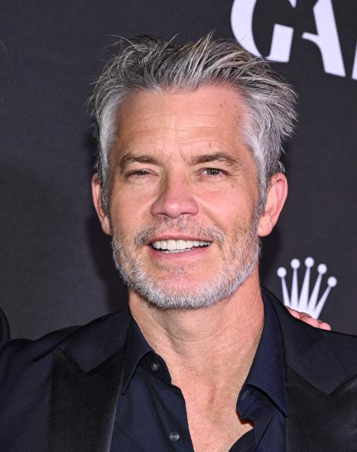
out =
<svg viewBox="0 0 357 452"><path fill-rule="evenodd" d="M128 323L114 314L54 350L50 452L110 452Z"/></svg>

